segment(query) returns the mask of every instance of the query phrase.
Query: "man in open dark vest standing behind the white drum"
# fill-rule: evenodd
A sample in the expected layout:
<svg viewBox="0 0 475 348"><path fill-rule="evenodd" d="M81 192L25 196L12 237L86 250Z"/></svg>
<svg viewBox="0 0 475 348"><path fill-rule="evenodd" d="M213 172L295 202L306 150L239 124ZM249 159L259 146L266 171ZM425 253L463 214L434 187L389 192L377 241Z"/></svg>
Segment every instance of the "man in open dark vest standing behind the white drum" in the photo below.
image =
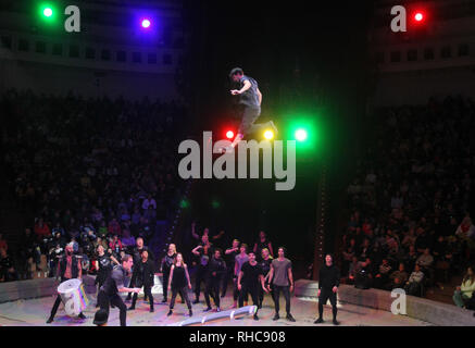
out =
<svg viewBox="0 0 475 348"><path fill-rule="evenodd" d="M80 258L75 256L73 249L73 243L70 243L65 247L65 254L60 257L58 270L58 277L61 277L61 283L64 283L68 279L83 277L83 268L80 265ZM54 315L58 312L58 308L60 307L62 299L61 295L58 294L57 300L54 301L53 308L51 309L51 314L48 318L47 323L50 324L54 321ZM79 319L86 319L83 312L78 315Z"/></svg>

